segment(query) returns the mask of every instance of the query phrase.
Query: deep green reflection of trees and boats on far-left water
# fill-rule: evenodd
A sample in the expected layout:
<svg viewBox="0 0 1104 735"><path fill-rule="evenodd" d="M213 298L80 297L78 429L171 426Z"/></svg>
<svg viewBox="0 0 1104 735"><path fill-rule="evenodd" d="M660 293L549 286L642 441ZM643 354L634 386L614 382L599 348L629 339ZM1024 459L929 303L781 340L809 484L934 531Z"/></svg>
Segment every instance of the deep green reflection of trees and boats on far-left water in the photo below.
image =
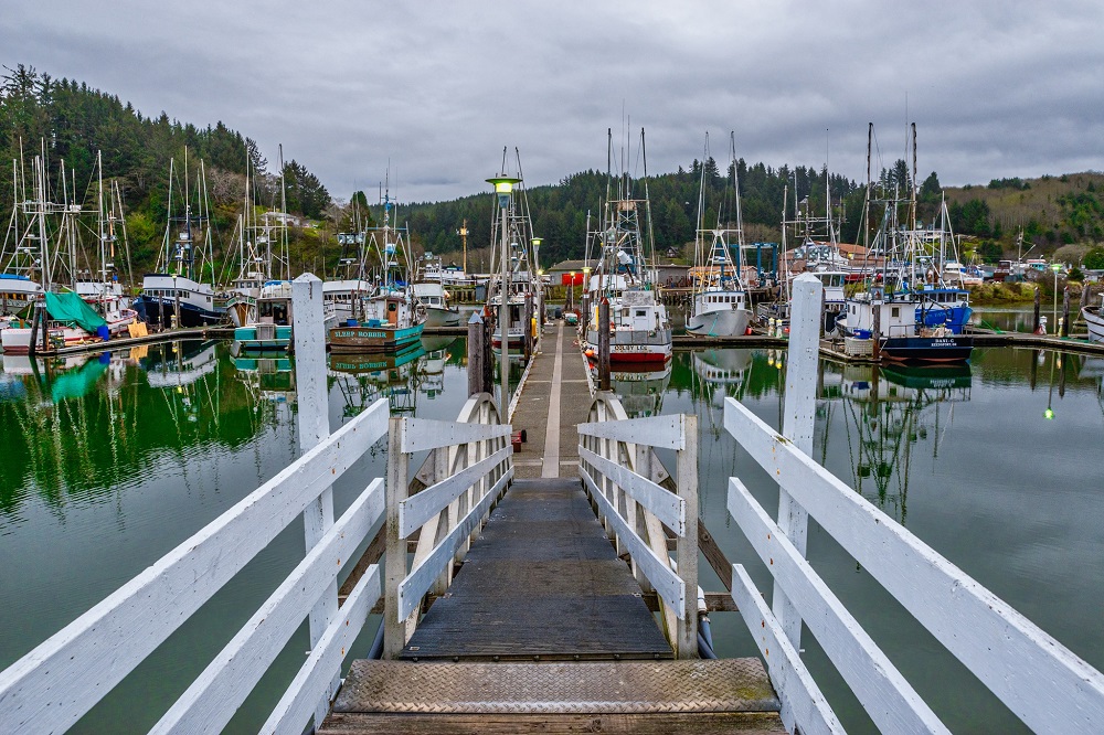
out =
<svg viewBox="0 0 1104 735"><path fill-rule="evenodd" d="M265 425L226 345L185 341L64 359L3 355L0 510L140 482L158 455L235 447ZM220 365L222 369L220 369Z"/></svg>

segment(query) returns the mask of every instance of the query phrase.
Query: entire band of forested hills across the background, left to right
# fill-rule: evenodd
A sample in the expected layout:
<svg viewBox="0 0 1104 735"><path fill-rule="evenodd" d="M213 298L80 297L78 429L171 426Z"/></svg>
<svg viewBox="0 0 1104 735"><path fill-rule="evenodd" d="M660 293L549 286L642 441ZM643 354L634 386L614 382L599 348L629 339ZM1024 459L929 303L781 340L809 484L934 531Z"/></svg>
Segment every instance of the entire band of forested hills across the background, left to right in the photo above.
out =
<svg viewBox="0 0 1104 735"><path fill-rule="evenodd" d="M235 251L231 241L243 211L247 171L255 205L283 206L278 161L265 160L253 139L222 122L199 127L170 118L163 111L144 115L117 96L85 84L54 79L22 65L6 67L0 83L0 210L10 212L17 200L12 162L30 170L33 157L43 152L54 200L63 199L59 182L64 161L70 190L75 190L77 200L91 204L95 196L96 155L102 152L105 179L118 180L125 196L136 273L155 265L169 209L169 161L174 160L179 171L185 149L193 181L199 162L203 162L215 256L225 260ZM707 157L704 161L688 161L676 172L633 182L634 196L643 198L645 191L650 196L659 253L684 253L686 245L693 241L703 168L705 224L715 223L719 211L724 219L731 219L733 170L728 161L719 163ZM863 182L831 174L818 166L775 168L744 159L736 161L735 173L749 241L781 239L784 200L788 202L790 217L795 202L803 202L803 207L815 216L822 216L827 189L832 217L840 222L840 238L862 242ZM293 273L309 269L330 274L342 255L336 234L355 228L358 222L359 226L365 226L373 213L379 220L379 209L370 206L375 202L363 192L350 195L355 206L350 201L331 200L322 182L294 159L285 162L283 174L287 211L309 220L309 224L291 230ZM882 171L877 183L883 191L898 192L907 192L913 185L903 160ZM20 192L19 199L25 193L29 192ZM945 194L955 232L966 236L970 252L987 260L1015 256L1021 231L1021 251L1033 246L1033 255L1051 255L1065 246L1066 259L1078 259L1076 254L1104 239L1104 174L1001 179L985 187L947 189ZM570 173L556 184L530 188L527 195L533 231L544 242L542 264L580 258L584 252L587 213L592 213L592 225L596 225L607 198L607 174L596 170ZM917 217L931 222L937 215L943 195L938 175L930 173L917 187ZM471 270L489 265L487 251L495 215L496 204L489 191L446 202L400 203L397 211L399 223L410 226L416 251L432 251L455 263L460 262L459 230L466 221ZM869 226L877 225L880 217L880 211L872 211ZM87 224L92 232L91 217ZM6 247L10 247L10 242ZM215 270L225 271L225 265Z"/></svg>

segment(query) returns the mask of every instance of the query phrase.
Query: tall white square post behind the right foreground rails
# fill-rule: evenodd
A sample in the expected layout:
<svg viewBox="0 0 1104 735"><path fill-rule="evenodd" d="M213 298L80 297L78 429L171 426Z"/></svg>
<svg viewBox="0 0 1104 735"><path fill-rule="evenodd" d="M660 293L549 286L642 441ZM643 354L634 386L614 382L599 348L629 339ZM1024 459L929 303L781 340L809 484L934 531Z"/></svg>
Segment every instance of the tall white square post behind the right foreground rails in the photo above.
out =
<svg viewBox="0 0 1104 735"><path fill-rule="evenodd" d="M813 454L816 423L816 385L820 363L820 311L824 285L811 274L794 279L794 306L789 320L789 355L786 360L786 398L782 434L797 449ZM778 488L778 525L802 556L805 555L809 514L788 492ZM794 648L802 648L802 616L774 584L774 615Z"/></svg>

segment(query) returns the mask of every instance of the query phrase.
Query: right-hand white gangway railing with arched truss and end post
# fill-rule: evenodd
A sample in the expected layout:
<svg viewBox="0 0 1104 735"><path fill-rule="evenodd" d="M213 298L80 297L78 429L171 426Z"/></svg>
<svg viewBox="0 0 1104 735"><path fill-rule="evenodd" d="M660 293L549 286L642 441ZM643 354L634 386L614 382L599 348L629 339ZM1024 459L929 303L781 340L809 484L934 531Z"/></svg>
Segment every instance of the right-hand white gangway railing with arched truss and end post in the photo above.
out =
<svg viewBox="0 0 1104 735"><path fill-rule="evenodd" d="M598 393L590 423L578 425L578 473L598 519L628 552L633 573L657 593L668 640L679 658L698 654L697 416L628 418L620 402ZM654 481L652 449L678 452L678 493ZM675 533L676 560L664 526Z"/></svg>

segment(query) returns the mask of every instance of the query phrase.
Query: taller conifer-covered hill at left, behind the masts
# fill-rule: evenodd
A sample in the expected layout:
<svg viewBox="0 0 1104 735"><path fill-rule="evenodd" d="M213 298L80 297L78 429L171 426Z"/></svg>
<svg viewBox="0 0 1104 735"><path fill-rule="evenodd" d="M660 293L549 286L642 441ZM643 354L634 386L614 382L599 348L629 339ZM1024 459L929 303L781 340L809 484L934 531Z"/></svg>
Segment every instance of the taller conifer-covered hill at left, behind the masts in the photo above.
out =
<svg viewBox="0 0 1104 735"><path fill-rule="evenodd" d="M201 128L170 119L163 111L146 116L117 96L76 81L54 79L32 67L6 68L0 83L0 209L6 221L17 199L13 166L25 172L24 190L18 194L22 200L31 196L33 158L43 153L53 201L64 200L60 184L64 166L70 191L95 209L98 152L104 178L117 179L126 200L135 269L151 268L166 227L169 161L174 159L182 172L185 149L193 182L201 161L205 169L219 255L244 206L247 168L254 177L256 204L267 207L278 201L279 167L265 160L253 139L222 122ZM330 195L318 178L295 160L286 162L284 175L288 210L322 216ZM176 185L179 191L179 180ZM174 206L179 214L179 201Z"/></svg>

